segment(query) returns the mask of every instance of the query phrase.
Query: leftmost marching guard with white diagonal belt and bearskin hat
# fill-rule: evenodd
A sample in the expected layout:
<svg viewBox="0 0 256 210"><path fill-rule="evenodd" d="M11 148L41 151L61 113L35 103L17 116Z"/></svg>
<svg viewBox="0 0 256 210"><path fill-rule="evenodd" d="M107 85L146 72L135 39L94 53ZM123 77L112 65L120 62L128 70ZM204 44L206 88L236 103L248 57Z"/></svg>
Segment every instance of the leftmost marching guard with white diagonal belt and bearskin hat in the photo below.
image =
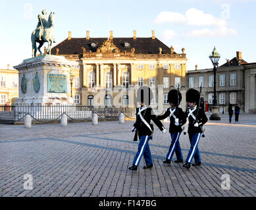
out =
<svg viewBox="0 0 256 210"><path fill-rule="evenodd" d="M136 137L138 132L140 142L132 166L128 168L132 171L137 171L142 155L146 163L143 169L153 167L153 160L149 148L149 139L152 139L153 135L153 124L150 123L151 119L155 125L159 127L162 133L165 133L166 131L161 121L157 119L157 116L153 113L153 110L148 107L152 97L153 93L149 87L143 86L138 89L136 102L139 102L141 106L140 108L136 108L136 122L132 127L132 132L136 131Z"/></svg>

